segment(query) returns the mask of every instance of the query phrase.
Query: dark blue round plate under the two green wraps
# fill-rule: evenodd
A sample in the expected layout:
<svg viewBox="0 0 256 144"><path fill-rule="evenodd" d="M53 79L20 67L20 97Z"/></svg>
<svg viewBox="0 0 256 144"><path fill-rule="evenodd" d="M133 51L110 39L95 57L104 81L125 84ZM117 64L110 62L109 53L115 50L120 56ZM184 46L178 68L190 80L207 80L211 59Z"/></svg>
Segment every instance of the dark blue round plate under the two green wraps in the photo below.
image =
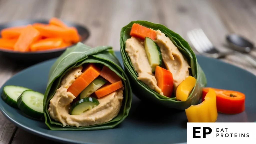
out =
<svg viewBox="0 0 256 144"><path fill-rule="evenodd" d="M121 60L119 52L117 57ZM254 122L256 120L256 76L217 59L197 56L205 71L208 87L237 90L246 95L245 111L237 115L218 113L217 122ZM18 85L44 93L48 72L56 59L29 67L10 78L5 85ZM0 89L2 92L2 88ZM133 96L129 116L117 127L94 131L54 131L44 122L24 117L0 98L0 110L16 126L35 135L66 143L136 144L184 143L187 141L185 111L158 109Z"/></svg>

